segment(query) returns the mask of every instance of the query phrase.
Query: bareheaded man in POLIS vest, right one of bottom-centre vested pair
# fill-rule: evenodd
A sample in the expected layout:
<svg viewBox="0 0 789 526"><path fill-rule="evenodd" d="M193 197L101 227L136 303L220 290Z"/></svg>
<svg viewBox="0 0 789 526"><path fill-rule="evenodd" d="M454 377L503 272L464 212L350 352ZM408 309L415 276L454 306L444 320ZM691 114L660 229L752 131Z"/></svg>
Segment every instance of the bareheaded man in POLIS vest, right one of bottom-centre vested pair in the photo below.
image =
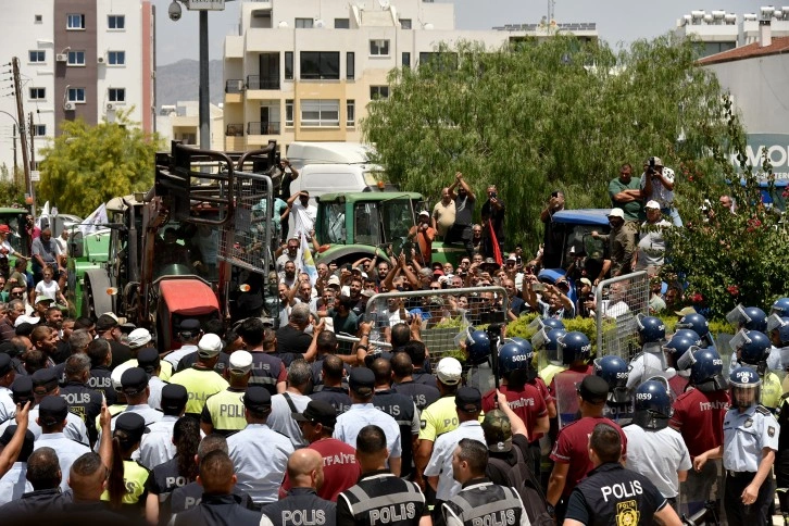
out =
<svg viewBox="0 0 789 526"><path fill-rule="evenodd" d="M462 485L458 494L441 506L448 526L508 524L528 526L529 519L517 491L485 477L488 447L462 439L452 453L452 476Z"/></svg>

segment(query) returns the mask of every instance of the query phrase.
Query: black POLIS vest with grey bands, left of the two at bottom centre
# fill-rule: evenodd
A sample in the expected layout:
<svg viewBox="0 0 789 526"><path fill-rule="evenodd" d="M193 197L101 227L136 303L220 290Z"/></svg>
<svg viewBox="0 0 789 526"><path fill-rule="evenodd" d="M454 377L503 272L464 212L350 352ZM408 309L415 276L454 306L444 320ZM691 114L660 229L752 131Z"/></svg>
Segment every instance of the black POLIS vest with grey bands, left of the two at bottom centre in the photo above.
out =
<svg viewBox="0 0 789 526"><path fill-rule="evenodd" d="M425 509L418 486L388 471L373 472L337 497L337 526L415 526Z"/></svg>

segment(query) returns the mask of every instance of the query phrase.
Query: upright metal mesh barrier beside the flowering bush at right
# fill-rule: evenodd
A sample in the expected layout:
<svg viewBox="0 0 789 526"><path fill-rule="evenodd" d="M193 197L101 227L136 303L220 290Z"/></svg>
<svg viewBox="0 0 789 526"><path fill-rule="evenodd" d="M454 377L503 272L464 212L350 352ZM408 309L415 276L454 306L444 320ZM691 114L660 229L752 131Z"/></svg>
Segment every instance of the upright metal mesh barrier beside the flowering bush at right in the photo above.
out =
<svg viewBox="0 0 789 526"><path fill-rule="evenodd" d="M601 281L594 291L597 353L629 361L638 345L638 314L649 315L649 276L646 271Z"/></svg>

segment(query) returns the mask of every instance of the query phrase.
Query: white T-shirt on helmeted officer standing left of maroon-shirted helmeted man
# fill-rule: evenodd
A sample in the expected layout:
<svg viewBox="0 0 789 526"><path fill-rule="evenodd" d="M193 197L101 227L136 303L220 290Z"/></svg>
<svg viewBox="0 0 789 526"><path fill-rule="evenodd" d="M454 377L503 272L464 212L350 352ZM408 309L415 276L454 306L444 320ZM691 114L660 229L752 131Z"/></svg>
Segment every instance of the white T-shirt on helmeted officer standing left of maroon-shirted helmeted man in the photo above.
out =
<svg viewBox="0 0 789 526"><path fill-rule="evenodd" d="M652 480L666 499L677 497L677 472L686 472L692 466L682 436L671 427L654 430L635 424L622 430L627 436L627 468Z"/></svg>

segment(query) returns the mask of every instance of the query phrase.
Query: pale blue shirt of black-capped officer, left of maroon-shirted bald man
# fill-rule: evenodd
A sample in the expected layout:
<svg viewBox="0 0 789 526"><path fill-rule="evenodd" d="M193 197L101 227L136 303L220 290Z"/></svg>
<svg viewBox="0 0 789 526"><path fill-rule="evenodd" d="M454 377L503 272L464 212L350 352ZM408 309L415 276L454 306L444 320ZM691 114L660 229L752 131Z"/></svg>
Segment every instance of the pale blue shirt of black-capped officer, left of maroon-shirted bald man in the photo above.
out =
<svg viewBox="0 0 789 526"><path fill-rule="evenodd" d="M288 458L293 452L288 437L265 424L248 424L227 437L227 447L236 468L237 486L255 503L277 501Z"/></svg>

